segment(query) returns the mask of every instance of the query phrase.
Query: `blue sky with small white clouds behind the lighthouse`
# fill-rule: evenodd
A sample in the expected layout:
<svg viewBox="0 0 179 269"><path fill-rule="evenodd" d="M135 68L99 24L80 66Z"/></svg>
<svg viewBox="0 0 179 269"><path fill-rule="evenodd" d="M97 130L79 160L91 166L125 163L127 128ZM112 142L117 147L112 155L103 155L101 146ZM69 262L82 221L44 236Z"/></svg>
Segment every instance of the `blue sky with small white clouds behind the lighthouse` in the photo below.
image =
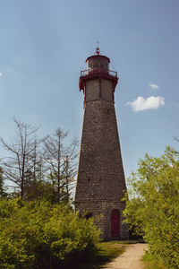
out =
<svg viewBox="0 0 179 269"><path fill-rule="evenodd" d="M119 75L125 176L145 152L178 149L178 13L178 0L0 1L0 135L13 139L17 117L39 136L62 127L80 140L79 76L99 39Z"/></svg>

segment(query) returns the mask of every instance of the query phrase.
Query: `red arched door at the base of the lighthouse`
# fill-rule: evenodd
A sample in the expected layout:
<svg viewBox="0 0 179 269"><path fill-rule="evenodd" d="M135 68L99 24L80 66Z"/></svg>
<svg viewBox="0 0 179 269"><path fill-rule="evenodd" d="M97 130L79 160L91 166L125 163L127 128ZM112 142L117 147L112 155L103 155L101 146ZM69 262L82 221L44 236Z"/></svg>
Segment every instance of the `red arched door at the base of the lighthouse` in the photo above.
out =
<svg viewBox="0 0 179 269"><path fill-rule="evenodd" d="M111 212L111 238L120 237L120 212L113 209Z"/></svg>

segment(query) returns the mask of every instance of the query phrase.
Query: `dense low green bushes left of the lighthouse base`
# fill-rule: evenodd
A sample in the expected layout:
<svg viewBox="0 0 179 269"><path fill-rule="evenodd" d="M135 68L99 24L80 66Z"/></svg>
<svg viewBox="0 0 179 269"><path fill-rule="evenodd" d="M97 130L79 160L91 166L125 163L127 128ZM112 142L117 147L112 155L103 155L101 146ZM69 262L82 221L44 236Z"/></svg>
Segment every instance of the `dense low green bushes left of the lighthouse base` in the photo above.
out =
<svg viewBox="0 0 179 269"><path fill-rule="evenodd" d="M66 206L0 201L2 269L52 269L93 256L99 230Z"/></svg>

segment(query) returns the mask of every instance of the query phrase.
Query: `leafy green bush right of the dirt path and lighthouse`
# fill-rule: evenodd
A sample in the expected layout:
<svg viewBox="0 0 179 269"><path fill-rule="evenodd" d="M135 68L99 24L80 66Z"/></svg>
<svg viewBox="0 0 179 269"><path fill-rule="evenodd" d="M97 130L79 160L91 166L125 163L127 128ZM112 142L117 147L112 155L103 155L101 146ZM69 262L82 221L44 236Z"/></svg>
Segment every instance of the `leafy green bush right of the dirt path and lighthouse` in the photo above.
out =
<svg viewBox="0 0 179 269"><path fill-rule="evenodd" d="M126 200L126 221L149 243L153 256L169 268L179 268L179 155L166 148L160 158L146 154L130 178L132 197Z"/></svg>

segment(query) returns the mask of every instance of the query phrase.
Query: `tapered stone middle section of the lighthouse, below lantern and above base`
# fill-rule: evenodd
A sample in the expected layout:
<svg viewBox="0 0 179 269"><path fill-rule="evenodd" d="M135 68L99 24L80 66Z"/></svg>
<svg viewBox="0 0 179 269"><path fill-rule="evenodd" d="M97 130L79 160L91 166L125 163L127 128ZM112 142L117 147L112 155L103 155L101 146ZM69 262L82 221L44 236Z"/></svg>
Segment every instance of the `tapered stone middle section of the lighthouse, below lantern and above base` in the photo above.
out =
<svg viewBox="0 0 179 269"><path fill-rule="evenodd" d="M87 102L81 138L76 199L115 199L125 190L114 103Z"/></svg>

